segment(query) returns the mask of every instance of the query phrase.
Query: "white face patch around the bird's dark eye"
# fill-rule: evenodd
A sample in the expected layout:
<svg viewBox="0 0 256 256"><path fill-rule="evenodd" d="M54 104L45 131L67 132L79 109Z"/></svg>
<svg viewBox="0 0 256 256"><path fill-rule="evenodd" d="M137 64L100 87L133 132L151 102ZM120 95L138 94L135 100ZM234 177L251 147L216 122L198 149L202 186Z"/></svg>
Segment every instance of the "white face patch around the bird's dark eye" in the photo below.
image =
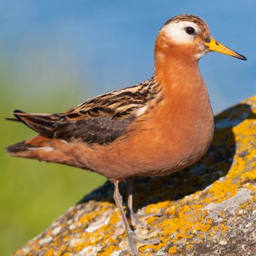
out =
<svg viewBox="0 0 256 256"><path fill-rule="evenodd" d="M169 23L166 26L164 26L161 31L164 31L166 33L166 36L168 36L171 41L174 41L174 43L178 44L186 44L186 43L192 43L194 40L195 35L189 35L186 33L187 27L192 27L195 29L196 34L201 33L201 28L198 27L196 23L193 23L191 21L180 21L177 23Z"/></svg>

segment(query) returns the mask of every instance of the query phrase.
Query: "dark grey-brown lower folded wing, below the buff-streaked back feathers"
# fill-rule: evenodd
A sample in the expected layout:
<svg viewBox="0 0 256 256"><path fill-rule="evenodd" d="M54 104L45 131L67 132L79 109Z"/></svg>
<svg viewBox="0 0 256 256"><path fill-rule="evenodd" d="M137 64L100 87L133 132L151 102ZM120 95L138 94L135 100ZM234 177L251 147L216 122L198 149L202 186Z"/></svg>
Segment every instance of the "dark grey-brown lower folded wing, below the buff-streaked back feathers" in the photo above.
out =
<svg viewBox="0 0 256 256"><path fill-rule="evenodd" d="M69 119L63 114L30 114L14 111L18 121L23 122L39 134L65 141L79 139L88 144L107 144L120 137L133 118L114 118L111 116Z"/></svg>

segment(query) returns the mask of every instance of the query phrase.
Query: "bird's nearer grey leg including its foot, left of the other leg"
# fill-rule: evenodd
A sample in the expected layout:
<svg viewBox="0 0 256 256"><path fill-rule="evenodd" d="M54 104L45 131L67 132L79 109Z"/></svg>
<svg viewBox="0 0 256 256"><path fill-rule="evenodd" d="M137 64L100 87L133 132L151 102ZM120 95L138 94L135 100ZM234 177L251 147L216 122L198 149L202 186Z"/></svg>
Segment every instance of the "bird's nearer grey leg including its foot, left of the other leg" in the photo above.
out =
<svg viewBox="0 0 256 256"><path fill-rule="evenodd" d="M115 203L116 203L116 205L119 209L119 212L121 214L122 221L124 223L124 227L125 227L125 230L127 232L128 245L129 245L129 248L132 252L132 255L138 256L139 255L139 250L137 249L137 243L139 243L139 245L138 245L138 247L139 247L139 246L142 246L142 245L156 245L160 241L157 240L157 239L144 240L142 238L137 237L137 235L134 234L134 231L129 226L127 217L124 213L124 209L123 209L123 206L122 206L122 196L119 193L118 184L119 184L119 181L114 181L114 201L115 201Z"/></svg>

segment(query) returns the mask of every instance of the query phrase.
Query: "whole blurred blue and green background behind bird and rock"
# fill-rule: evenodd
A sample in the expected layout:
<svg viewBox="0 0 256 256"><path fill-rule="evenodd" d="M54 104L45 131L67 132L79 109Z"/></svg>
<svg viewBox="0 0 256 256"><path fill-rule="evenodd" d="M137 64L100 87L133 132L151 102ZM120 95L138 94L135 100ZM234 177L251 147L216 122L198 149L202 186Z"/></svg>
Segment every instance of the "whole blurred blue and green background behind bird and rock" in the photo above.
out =
<svg viewBox="0 0 256 256"><path fill-rule="evenodd" d="M16 108L60 112L153 72L154 40L176 14L196 14L248 60L200 61L214 112L254 95L255 1L0 1L0 255L9 255L104 178L12 159L4 147L33 136L4 121Z"/></svg>

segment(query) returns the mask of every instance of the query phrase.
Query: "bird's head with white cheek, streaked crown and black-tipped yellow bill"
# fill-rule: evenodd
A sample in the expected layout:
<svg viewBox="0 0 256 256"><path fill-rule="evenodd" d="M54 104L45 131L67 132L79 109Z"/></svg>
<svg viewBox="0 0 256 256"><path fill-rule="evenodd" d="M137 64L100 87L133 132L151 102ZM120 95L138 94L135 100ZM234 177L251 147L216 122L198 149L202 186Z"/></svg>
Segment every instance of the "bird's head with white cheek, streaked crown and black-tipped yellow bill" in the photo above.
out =
<svg viewBox="0 0 256 256"><path fill-rule="evenodd" d="M210 51L217 51L246 60L243 55L223 46L210 35L208 25L198 16L182 14L171 18L159 31L156 49L180 53L198 60Z"/></svg>

